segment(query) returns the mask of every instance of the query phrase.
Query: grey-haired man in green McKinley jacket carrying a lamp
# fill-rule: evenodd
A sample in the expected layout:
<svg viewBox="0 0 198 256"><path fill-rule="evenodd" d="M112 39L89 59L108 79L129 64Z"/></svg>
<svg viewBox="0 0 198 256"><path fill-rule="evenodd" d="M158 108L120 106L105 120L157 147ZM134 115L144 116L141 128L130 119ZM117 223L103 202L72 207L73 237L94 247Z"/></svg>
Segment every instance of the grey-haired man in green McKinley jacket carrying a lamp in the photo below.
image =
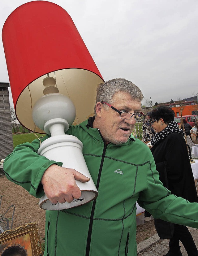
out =
<svg viewBox="0 0 198 256"><path fill-rule="evenodd" d="M136 256L136 202L154 218L198 228L198 204L163 187L149 148L131 137L142 99L132 82L109 80L98 85L95 116L67 131L83 142L99 195L76 208L46 211L45 256ZM52 203L79 198L75 180L89 179L38 155L39 146L39 140L18 145L4 162L7 178Z"/></svg>

